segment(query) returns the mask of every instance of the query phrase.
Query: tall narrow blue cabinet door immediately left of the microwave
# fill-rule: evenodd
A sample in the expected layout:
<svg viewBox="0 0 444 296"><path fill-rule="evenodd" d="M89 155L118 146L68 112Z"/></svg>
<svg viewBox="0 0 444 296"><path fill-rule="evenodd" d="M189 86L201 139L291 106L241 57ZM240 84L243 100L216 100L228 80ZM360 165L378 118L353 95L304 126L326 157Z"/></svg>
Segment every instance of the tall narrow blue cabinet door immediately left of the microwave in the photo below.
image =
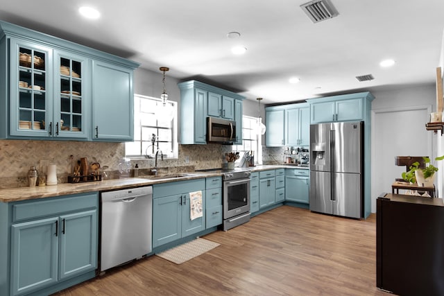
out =
<svg viewBox="0 0 444 296"><path fill-rule="evenodd" d="M194 89L194 143L207 143L207 91L203 89Z"/></svg>

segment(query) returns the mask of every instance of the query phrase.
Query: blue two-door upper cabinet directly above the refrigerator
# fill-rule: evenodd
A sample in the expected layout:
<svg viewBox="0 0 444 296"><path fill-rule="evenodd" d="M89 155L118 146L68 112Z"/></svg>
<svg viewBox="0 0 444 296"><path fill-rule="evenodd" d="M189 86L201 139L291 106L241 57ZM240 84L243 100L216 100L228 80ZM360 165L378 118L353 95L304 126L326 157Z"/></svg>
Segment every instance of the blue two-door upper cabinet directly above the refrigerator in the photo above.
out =
<svg viewBox="0 0 444 296"><path fill-rule="evenodd" d="M373 96L369 92L311 98L311 123L333 121L365 121Z"/></svg>

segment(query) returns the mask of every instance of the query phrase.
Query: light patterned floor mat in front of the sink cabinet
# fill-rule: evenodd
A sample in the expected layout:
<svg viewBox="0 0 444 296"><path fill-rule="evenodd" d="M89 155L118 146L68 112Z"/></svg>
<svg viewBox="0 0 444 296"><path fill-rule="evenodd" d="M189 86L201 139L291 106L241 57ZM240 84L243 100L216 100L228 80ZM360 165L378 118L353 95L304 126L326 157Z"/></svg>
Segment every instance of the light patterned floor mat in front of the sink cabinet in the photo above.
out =
<svg viewBox="0 0 444 296"><path fill-rule="evenodd" d="M218 245L220 244L207 241L204 238L196 238L194 241L165 250L162 253L156 254L156 256L160 256L176 264L181 264L214 249Z"/></svg>

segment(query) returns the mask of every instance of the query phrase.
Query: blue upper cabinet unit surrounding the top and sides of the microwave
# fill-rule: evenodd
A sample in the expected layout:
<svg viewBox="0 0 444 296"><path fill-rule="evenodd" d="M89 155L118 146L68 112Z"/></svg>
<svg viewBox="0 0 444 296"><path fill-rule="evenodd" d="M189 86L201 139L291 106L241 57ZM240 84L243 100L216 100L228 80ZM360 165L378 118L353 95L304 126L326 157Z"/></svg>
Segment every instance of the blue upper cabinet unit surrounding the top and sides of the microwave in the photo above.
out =
<svg viewBox="0 0 444 296"><path fill-rule="evenodd" d="M207 143L208 116L236 121L237 139L234 143L242 143L244 96L196 80L180 82L178 87L180 89L180 143Z"/></svg>

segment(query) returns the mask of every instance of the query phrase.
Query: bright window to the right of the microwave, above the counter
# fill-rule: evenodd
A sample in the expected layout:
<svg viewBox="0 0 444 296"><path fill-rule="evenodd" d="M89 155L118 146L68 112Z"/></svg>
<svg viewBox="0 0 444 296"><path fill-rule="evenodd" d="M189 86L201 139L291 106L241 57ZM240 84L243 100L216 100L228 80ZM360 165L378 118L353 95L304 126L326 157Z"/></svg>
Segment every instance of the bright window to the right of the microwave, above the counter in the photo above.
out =
<svg viewBox="0 0 444 296"><path fill-rule="evenodd" d="M252 151L255 163L262 164L262 137L257 136L258 120L256 117L242 116L242 145L234 145L233 151Z"/></svg>

